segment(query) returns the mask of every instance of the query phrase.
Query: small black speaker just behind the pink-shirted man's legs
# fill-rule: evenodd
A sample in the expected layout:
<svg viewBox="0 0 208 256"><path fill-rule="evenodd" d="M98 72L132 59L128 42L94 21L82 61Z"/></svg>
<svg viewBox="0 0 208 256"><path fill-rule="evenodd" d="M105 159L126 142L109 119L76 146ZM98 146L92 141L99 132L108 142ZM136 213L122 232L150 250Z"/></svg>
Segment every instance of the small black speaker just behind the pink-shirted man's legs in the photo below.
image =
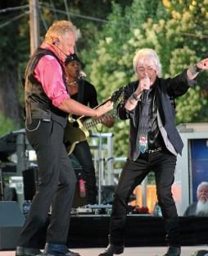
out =
<svg viewBox="0 0 208 256"><path fill-rule="evenodd" d="M38 167L33 167L22 171L22 176L25 200L32 201L38 185Z"/></svg>

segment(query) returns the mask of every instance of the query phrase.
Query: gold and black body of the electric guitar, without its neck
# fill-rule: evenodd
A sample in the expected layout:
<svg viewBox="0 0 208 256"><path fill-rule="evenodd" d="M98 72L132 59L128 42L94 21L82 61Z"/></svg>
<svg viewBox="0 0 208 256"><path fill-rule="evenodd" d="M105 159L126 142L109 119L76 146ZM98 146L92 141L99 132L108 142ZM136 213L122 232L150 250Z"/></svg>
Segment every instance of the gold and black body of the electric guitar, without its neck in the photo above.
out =
<svg viewBox="0 0 208 256"><path fill-rule="evenodd" d="M66 146L66 151L70 155L75 149L75 145L80 141L84 141L89 136L88 130L83 126L82 122L67 121L65 134L64 134L64 144Z"/></svg>

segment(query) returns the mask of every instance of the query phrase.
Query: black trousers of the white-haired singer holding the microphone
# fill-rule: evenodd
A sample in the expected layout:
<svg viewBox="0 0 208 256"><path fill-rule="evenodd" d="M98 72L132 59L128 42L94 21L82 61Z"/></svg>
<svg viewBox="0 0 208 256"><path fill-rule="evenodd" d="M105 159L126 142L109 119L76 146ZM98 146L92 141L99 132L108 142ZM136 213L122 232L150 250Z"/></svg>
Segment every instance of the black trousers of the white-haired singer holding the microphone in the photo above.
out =
<svg viewBox="0 0 208 256"><path fill-rule="evenodd" d="M167 243L168 245L179 245L179 219L171 193L171 185L174 183L175 164L176 157L166 150L150 154L144 153L135 162L129 159L125 162L112 205L110 224L111 244L124 244L124 228L129 196L132 194L135 186L141 184L150 171L154 171L158 203L165 218Z"/></svg>

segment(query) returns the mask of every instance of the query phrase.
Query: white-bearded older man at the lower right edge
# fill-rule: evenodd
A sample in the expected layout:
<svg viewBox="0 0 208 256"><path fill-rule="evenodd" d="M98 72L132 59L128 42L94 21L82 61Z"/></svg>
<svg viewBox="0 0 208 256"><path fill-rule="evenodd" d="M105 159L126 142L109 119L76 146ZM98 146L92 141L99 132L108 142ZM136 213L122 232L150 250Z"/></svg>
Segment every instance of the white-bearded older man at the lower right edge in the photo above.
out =
<svg viewBox="0 0 208 256"><path fill-rule="evenodd" d="M197 202L191 203L183 216L208 216L208 182L198 185Z"/></svg>

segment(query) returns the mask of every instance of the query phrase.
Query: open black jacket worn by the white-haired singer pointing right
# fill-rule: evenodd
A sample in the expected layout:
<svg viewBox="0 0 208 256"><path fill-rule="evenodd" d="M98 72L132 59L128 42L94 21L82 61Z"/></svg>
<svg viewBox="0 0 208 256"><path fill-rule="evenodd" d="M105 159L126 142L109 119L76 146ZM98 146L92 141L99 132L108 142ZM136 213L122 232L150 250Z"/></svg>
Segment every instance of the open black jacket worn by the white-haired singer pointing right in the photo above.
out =
<svg viewBox="0 0 208 256"><path fill-rule="evenodd" d="M156 102L158 112L161 117L162 125L165 128L170 143L174 146L176 153L182 153L183 142L180 138L179 131L174 125L174 106L171 103L171 98L177 98L185 94L188 88L196 84L196 80L188 80L187 71L175 76L174 78L162 79L157 78L156 86ZM129 133L129 158L136 160L140 154L138 150L138 123L141 113L141 101L132 112L128 112L124 108L126 100L137 89L138 80L129 83L124 88L124 103L118 106L118 114L120 119L130 120L130 133Z"/></svg>

